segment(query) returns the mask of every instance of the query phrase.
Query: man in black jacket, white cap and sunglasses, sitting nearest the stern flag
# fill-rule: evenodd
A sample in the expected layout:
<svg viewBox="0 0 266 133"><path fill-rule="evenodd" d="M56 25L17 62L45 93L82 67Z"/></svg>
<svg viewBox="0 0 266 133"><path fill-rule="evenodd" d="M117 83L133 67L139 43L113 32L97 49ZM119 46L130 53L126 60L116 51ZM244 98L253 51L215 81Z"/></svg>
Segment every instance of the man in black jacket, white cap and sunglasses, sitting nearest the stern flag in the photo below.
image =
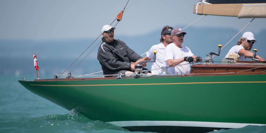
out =
<svg viewBox="0 0 266 133"><path fill-rule="evenodd" d="M97 59L100 61L104 75L132 74L136 63L131 62L136 62L142 57L130 49L125 42L114 39L114 29L116 28L110 25L103 26L103 42L98 48Z"/></svg>

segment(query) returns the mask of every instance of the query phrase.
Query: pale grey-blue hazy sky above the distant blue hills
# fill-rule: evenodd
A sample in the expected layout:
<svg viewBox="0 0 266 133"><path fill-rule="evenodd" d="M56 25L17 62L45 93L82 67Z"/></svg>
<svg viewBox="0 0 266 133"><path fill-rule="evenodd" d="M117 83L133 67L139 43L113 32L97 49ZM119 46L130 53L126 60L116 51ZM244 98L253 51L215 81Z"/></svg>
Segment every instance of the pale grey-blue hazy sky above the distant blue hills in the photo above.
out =
<svg viewBox="0 0 266 133"><path fill-rule="evenodd" d="M130 0L127 7L137 0ZM127 0L0 0L0 39L96 38L111 24ZM125 10L116 35L145 35L165 25L184 28L201 15L193 14L198 0L140 0ZM193 27L240 30L251 19L206 16ZM266 29L266 19L255 19L246 30ZM114 22L116 24L117 21ZM113 24L113 25L114 25ZM204 33L203 33L204 34Z"/></svg>

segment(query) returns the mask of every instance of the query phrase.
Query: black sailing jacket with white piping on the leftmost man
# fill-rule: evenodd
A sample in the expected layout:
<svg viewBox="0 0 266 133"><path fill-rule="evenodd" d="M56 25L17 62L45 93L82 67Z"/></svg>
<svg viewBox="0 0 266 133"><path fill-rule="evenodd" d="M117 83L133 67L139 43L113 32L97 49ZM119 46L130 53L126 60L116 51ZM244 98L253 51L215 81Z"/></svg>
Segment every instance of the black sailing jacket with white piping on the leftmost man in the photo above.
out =
<svg viewBox="0 0 266 133"><path fill-rule="evenodd" d="M121 70L131 71L131 62L142 59L137 53L130 49L125 42L114 39L106 42L102 38L102 43L98 48L97 59L102 65L103 74L116 74Z"/></svg>

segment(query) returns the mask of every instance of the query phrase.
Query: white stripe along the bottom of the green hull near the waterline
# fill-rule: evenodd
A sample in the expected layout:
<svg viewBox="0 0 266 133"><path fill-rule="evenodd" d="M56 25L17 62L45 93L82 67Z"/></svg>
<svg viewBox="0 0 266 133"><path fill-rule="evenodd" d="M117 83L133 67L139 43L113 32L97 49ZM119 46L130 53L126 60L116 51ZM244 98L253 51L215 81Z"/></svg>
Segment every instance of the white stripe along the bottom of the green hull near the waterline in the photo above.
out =
<svg viewBox="0 0 266 133"><path fill-rule="evenodd" d="M252 123L225 123L203 121L111 121L106 122L115 126L194 126L194 127L217 127L217 128L241 128L247 125L266 126L266 124Z"/></svg>

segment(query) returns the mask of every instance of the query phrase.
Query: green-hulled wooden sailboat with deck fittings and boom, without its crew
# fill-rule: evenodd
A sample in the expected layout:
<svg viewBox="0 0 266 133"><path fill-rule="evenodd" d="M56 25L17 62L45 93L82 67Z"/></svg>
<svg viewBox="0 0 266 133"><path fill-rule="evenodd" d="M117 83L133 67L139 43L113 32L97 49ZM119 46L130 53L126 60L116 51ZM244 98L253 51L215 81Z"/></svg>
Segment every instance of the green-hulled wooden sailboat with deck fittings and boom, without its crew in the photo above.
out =
<svg viewBox="0 0 266 133"><path fill-rule="evenodd" d="M195 4L194 13L265 17L263 9L259 9L262 10L259 15L256 14L258 10L251 14L254 9L245 13L249 7L265 9L265 1L256 4L234 1L225 7L219 2L211 2ZM213 9L215 11L211 11ZM223 14L224 9L233 13ZM221 47L218 46L217 53L208 51L204 61L191 66L189 74L168 74L162 68L162 74L146 75L140 68L135 74L116 77L85 78L69 74L64 78L55 75L53 79L19 82L36 95L67 110L76 109L91 120L129 131L210 132L266 125L265 61L224 59L221 64L215 64L213 56L219 56ZM37 62L35 67L38 73Z"/></svg>

